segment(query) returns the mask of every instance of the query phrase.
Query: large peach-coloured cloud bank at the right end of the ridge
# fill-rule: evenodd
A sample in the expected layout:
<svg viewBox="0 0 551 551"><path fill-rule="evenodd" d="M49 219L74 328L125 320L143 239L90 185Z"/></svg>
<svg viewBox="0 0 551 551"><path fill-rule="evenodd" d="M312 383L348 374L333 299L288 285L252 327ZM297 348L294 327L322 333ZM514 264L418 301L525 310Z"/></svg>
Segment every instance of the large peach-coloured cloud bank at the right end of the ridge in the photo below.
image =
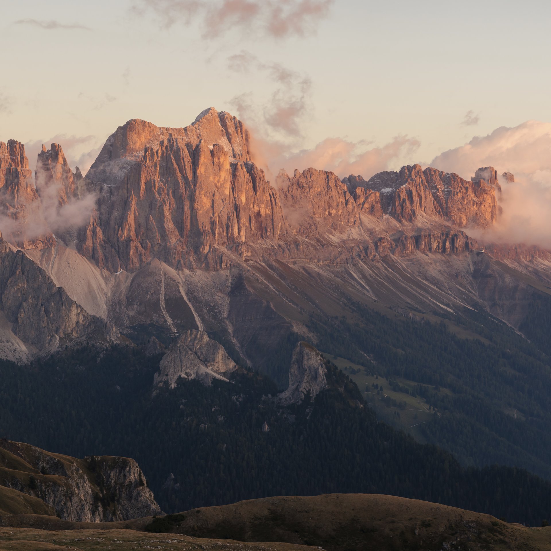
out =
<svg viewBox="0 0 551 551"><path fill-rule="evenodd" d="M515 182L500 179L503 207L488 240L539 245L551 249L551 123L527 121L514 128L500 127L488 136L436 156L431 166L469 177L482 166L498 174L512 172Z"/></svg>

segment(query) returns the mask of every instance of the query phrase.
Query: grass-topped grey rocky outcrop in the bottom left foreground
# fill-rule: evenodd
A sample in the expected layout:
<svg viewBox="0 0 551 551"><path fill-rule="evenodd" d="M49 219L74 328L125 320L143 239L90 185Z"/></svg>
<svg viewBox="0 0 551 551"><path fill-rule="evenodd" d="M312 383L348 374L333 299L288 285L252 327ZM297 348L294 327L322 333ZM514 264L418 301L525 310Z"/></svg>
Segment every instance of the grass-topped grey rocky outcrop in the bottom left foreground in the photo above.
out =
<svg viewBox="0 0 551 551"><path fill-rule="evenodd" d="M41 499L69 521L109 522L161 512L138 464L125 457L80 460L0 440L0 484Z"/></svg>

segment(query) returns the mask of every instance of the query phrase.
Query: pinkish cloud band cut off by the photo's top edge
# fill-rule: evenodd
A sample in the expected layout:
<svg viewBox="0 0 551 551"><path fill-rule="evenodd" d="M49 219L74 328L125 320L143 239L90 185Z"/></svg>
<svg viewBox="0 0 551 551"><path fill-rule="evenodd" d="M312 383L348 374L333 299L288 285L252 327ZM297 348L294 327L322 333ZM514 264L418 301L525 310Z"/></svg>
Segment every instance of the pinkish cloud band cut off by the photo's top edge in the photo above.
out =
<svg viewBox="0 0 551 551"><path fill-rule="evenodd" d="M333 0L135 0L132 12L153 12L164 28L177 22L203 29L212 39L231 29L274 39L307 36L327 17Z"/></svg>

